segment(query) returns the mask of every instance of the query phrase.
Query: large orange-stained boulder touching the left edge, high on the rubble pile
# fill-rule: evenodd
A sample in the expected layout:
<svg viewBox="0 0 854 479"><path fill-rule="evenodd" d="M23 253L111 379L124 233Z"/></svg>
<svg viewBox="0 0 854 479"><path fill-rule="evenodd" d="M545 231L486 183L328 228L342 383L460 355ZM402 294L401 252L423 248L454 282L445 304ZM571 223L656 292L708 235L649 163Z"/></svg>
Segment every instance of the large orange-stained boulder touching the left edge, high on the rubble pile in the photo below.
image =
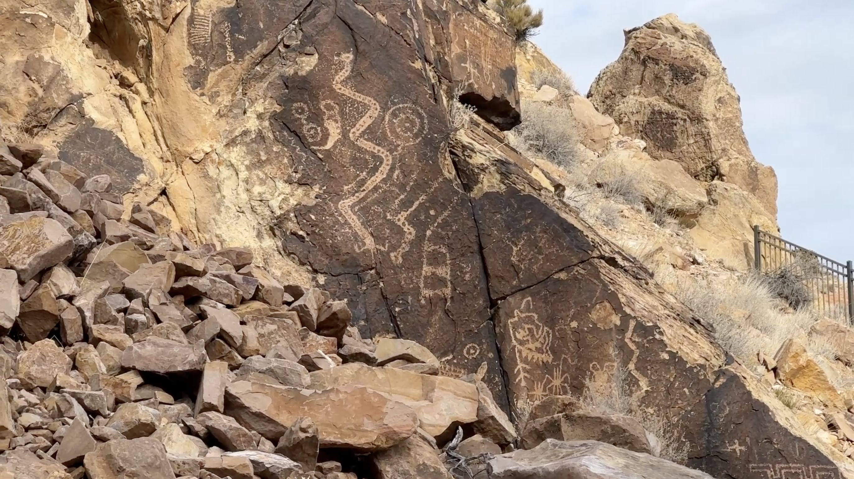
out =
<svg viewBox="0 0 854 479"><path fill-rule="evenodd" d="M0 251L25 282L70 257L74 240L56 220L31 216L0 226Z"/></svg>

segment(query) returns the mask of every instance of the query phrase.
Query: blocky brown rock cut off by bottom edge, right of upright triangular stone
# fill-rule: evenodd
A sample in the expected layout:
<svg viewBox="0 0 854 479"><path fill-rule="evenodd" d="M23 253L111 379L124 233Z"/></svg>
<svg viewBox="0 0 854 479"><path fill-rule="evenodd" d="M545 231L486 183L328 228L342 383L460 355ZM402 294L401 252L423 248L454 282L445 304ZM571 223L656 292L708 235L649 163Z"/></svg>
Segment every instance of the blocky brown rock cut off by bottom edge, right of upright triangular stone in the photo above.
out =
<svg viewBox="0 0 854 479"><path fill-rule="evenodd" d="M86 454L84 465L91 479L175 479L166 448L152 437L99 444Z"/></svg>

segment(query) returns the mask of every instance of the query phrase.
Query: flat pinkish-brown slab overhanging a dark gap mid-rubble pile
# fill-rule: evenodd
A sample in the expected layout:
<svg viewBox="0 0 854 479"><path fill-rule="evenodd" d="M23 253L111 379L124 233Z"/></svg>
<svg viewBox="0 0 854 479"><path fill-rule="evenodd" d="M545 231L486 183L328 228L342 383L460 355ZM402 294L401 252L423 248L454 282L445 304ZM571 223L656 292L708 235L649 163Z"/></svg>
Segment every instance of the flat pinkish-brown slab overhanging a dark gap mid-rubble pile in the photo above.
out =
<svg viewBox="0 0 854 479"><path fill-rule="evenodd" d="M202 371L208 355L202 343L180 344L159 338L128 346L121 355L121 365L137 371L189 372Z"/></svg>

